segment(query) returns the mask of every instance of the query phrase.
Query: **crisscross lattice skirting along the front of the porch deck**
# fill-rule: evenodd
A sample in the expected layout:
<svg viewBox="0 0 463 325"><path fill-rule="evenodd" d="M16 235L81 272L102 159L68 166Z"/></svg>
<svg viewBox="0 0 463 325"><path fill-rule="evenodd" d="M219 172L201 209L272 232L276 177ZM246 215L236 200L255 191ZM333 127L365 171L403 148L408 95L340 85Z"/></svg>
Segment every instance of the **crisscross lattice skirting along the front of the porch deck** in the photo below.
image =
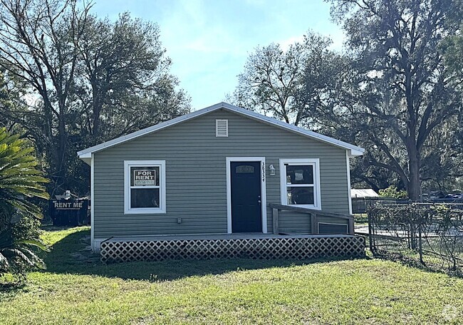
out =
<svg viewBox="0 0 463 325"><path fill-rule="evenodd" d="M101 243L100 254L102 262L362 257L365 255L365 238L355 236L108 241Z"/></svg>

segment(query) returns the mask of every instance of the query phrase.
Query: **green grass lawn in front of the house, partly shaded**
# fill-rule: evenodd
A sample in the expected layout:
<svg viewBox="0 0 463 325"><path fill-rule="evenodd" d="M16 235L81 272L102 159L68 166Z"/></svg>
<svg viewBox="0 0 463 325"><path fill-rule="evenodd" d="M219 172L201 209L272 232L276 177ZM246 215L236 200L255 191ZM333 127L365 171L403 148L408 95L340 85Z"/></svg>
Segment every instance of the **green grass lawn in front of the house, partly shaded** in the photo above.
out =
<svg viewBox="0 0 463 325"><path fill-rule="evenodd" d="M0 324L459 324L463 317L463 279L395 262L103 265L79 252L88 236L88 227L48 230L48 270L0 292Z"/></svg>

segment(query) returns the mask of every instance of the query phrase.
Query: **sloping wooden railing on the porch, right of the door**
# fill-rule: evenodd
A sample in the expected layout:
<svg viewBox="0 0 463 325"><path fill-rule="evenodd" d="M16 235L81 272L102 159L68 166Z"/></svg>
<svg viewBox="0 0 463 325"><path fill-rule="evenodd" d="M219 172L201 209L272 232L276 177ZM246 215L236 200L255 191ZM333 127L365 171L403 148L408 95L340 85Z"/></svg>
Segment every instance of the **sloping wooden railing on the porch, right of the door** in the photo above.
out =
<svg viewBox="0 0 463 325"><path fill-rule="evenodd" d="M335 217L339 219L347 219L348 220L348 234L354 234L354 217L353 215L342 215L340 213L335 212L327 212L322 210L314 210L309 209L307 207L293 207L291 205L277 205L274 203L269 204L269 207L272 209L272 217L273 217L273 226L274 226L274 234L279 234L279 211L293 211L293 212L301 212L307 213L311 215L311 229L312 234L318 234L318 217Z"/></svg>

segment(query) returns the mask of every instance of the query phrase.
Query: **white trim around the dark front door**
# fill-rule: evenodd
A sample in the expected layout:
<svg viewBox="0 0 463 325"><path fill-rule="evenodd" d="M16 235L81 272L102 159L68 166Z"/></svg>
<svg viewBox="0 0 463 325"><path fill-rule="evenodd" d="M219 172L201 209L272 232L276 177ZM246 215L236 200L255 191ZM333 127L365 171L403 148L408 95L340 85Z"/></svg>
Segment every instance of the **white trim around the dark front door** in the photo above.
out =
<svg viewBox="0 0 463 325"><path fill-rule="evenodd" d="M249 161L261 163L261 217L262 232L267 233L267 195L266 195L266 165L265 157L227 157L227 234L231 234L231 181L230 162Z"/></svg>

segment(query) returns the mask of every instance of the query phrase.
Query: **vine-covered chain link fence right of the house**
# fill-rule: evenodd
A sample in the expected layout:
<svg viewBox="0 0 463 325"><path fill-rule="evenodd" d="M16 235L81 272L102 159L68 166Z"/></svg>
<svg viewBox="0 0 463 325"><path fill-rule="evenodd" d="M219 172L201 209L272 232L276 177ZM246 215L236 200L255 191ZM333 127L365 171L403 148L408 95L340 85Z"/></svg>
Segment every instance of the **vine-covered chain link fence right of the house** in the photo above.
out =
<svg viewBox="0 0 463 325"><path fill-rule="evenodd" d="M375 256L463 274L463 204L375 202L366 207Z"/></svg>

